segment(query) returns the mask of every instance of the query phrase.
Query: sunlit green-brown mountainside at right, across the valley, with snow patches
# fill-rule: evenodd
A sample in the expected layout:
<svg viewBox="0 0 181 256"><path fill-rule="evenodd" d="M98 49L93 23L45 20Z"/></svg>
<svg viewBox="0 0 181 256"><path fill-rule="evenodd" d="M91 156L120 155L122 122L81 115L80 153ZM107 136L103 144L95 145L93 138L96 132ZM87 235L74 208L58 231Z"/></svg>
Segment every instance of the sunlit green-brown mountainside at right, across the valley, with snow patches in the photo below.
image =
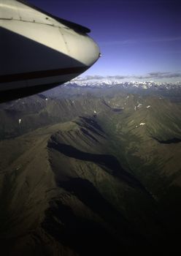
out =
<svg viewBox="0 0 181 256"><path fill-rule="evenodd" d="M115 153L131 170L138 169L144 173L142 166L154 165L153 169L158 168L164 176L178 173L181 149L180 102L133 95L116 102L117 108L124 110L109 116L98 116L99 123L109 135L110 150L116 148ZM109 101L109 105L115 107L115 99Z"/></svg>

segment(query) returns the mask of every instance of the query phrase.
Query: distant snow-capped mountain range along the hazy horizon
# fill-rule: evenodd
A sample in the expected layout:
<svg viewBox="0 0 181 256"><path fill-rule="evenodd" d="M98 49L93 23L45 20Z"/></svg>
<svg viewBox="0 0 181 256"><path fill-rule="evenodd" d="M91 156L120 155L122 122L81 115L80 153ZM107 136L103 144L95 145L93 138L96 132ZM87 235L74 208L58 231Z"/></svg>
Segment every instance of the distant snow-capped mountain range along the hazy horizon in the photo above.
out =
<svg viewBox="0 0 181 256"><path fill-rule="evenodd" d="M181 82L160 83L154 81L123 82L121 79L100 78L77 79L43 93L45 97L74 98L92 94L94 97L114 97L115 94L159 95L163 97L181 97ZM89 96L89 95L88 95Z"/></svg>

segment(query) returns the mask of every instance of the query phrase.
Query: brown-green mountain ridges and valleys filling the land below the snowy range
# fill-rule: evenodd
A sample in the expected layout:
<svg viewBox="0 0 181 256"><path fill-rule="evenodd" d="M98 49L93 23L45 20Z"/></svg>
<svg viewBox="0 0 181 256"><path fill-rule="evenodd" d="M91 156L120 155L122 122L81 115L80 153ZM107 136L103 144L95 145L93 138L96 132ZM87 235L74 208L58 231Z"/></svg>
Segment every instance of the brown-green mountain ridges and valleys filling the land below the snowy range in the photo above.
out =
<svg viewBox="0 0 181 256"><path fill-rule="evenodd" d="M1 105L4 255L179 251L179 97L58 90Z"/></svg>

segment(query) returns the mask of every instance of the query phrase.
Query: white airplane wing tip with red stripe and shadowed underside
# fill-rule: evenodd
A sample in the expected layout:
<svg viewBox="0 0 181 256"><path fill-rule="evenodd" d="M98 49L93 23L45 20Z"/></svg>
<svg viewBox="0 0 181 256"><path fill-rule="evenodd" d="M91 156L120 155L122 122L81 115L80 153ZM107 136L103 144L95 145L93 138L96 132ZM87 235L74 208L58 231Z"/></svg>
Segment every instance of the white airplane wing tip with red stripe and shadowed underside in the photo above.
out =
<svg viewBox="0 0 181 256"><path fill-rule="evenodd" d="M89 29L22 0L0 0L0 102L72 80L99 59Z"/></svg>

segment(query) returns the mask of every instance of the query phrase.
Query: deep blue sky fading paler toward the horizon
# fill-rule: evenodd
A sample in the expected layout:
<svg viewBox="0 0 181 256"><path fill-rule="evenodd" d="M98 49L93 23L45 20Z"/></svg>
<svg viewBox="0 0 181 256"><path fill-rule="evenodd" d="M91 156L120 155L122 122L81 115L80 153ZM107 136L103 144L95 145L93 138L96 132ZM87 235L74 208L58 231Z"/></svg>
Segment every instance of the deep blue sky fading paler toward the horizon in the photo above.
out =
<svg viewBox="0 0 181 256"><path fill-rule="evenodd" d="M179 0L29 2L91 29L90 36L99 44L102 57L85 75L181 72Z"/></svg>

